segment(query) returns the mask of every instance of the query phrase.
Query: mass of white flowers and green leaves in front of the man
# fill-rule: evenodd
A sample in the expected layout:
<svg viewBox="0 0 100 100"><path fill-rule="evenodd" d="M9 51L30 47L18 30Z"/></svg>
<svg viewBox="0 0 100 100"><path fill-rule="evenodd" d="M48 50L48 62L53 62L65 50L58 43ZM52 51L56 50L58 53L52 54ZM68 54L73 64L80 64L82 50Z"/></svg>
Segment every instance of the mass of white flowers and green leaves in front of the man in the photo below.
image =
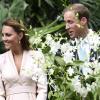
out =
<svg viewBox="0 0 100 100"><path fill-rule="evenodd" d="M100 52L100 37L92 30L89 30L89 33L84 41L88 42L94 51ZM75 57L74 52L83 39L69 42L60 33L55 36L47 34L39 38L41 42L38 40L35 46L41 48L45 55L49 78L48 98L50 100L75 100L75 98L96 100L100 90L100 62L98 62L100 53L98 59L92 57L92 62L80 61ZM45 41L42 42L44 38Z"/></svg>

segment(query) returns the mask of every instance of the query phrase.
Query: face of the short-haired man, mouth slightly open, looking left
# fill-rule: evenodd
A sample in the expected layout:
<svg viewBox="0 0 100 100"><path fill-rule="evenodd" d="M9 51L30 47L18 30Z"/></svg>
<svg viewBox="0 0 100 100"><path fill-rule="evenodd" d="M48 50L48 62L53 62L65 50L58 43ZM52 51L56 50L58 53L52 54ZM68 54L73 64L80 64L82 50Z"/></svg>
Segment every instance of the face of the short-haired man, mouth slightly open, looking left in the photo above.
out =
<svg viewBox="0 0 100 100"><path fill-rule="evenodd" d="M70 38L78 38L81 33L80 21L73 11L67 11L64 13L64 21L66 24L66 30Z"/></svg>

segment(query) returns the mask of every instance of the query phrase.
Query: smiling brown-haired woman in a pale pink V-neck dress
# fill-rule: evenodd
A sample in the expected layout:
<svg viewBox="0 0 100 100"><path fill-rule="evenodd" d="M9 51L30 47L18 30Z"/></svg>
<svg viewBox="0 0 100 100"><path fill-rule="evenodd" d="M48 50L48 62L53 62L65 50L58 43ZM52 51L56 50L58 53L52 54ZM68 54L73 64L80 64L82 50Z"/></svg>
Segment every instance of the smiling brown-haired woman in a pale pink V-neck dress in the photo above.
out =
<svg viewBox="0 0 100 100"><path fill-rule="evenodd" d="M7 52L0 55L0 100L46 100L47 77L40 51L29 47L26 30L13 19L3 23Z"/></svg>

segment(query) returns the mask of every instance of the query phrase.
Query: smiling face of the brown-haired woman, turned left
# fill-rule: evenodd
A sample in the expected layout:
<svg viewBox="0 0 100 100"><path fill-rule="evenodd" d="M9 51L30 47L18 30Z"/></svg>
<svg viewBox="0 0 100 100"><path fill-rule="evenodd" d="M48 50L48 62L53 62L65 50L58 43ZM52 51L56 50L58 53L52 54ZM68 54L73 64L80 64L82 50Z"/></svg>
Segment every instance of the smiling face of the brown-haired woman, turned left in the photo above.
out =
<svg viewBox="0 0 100 100"><path fill-rule="evenodd" d="M20 45L20 36L11 26L4 25L2 27L2 40L6 49L16 49Z"/></svg>

